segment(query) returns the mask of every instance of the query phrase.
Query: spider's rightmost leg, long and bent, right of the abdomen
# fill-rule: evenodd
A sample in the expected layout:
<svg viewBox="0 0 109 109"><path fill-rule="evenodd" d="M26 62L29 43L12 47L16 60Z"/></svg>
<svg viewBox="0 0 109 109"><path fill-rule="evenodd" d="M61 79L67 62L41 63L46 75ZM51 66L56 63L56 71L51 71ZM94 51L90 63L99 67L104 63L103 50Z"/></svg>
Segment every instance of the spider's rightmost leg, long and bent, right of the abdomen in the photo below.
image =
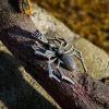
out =
<svg viewBox="0 0 109 109"><path fill-rule="evenodd" d="M78 56L77 56L76 52L78 52ZM86 65L85 65L85 62L84 62L82 52L81 52L80 50L77 50L77 49L74 48L73 56L75 56L77 59L81 60L81 63L82 63L82 65L83 65L84 71L87 72L87 69L86 69Z"/></svg>

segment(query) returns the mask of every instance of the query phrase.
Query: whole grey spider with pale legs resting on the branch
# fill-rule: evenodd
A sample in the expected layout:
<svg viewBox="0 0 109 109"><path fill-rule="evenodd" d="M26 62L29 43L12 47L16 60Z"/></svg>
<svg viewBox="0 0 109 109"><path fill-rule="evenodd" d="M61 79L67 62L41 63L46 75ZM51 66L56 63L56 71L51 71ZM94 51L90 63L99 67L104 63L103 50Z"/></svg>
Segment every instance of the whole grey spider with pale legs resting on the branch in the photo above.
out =
<svg viewBox="0 0 109 109"><path fill-rule="evenodd" d="M40 45L38 41L35 41L35 44L37 44L37 48L35 48L34 46L32 46L32 48L35 50L35 55L47 58L50 78L55 78L60 82L60 78L55 75L53 70L51 68L51 63L55 63L57 61L58 63L56 68L60 74L60 77L66 82L74 84L74 82L70 77L63 74L60 66L60 64L62 63L69 71L73 71L75 69L75 62L71 56L75 56L77 59L80 59L83 64L84 71L87 72L82 52L75 49L73 46L69 50L65 50L69 47L69 44L65 41L64 38L53 37L47 39L39 31L36 31L34 34L32 34L32 36L37 38L38 41L40 41L41 44ZM48 40L58 41L60 44L60 47L57 47L55 44L51 44Z"/></svg>

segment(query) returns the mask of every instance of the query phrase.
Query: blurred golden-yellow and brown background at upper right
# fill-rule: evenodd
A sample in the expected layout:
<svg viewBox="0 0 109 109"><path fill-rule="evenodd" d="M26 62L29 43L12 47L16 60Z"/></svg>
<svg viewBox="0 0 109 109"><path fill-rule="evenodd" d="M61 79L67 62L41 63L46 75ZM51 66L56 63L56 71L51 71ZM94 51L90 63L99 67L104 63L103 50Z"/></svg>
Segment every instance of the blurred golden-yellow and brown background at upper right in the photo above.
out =
<svg viewBox="0 0 109 109"><path fill-rule="evenodd" d="M109 0L34 0L72 31L109 52Z"/></svg>

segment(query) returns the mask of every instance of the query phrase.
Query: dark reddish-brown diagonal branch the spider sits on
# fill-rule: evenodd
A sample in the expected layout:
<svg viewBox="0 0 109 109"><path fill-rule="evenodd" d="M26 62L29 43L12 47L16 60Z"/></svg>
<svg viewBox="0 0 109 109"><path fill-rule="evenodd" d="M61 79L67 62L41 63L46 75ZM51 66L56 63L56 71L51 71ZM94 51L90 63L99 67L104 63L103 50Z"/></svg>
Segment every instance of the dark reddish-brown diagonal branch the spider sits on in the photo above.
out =
<svg viewBox="0 0 109 109"><path fill-rule="evenodd" d="M82 74L77 70L73 71L75 85L63 81L58 83L56 80L48 77L46 61L36 57L31 47L34 44L31 34L36 29L29 16L15 13L12 10L1 9L0 39L16 58L24 62L25 70L62 108L108 109L109 87L93 80L89 75ZM55 66L56 64L53 64L53 69ZM62 71L65 75L70 73L64 69Z"/></svg>

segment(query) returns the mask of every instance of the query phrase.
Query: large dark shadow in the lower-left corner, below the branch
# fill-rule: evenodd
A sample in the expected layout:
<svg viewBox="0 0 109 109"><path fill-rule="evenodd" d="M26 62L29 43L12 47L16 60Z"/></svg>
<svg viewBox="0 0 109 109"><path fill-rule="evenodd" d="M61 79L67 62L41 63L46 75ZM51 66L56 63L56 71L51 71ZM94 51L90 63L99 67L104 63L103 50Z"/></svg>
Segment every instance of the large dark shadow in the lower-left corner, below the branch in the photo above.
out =
<svg viewBox="0 0 109 109"><path fill-rule="evenodd" d="M23 78L19 68L14 57L0 51L0 100L8 109L56 109Z"/></svg>

